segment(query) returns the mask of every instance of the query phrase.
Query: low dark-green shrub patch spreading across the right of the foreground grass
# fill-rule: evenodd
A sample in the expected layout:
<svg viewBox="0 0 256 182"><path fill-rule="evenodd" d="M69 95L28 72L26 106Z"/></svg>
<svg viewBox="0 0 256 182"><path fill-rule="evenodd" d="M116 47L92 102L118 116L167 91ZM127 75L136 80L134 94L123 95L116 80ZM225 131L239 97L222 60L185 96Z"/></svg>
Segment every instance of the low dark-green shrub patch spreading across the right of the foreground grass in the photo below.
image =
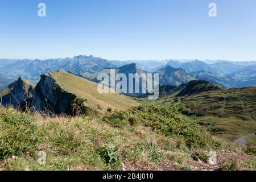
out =
<svg viewBox="0 0 256 182"><path fill-rule="evenodd" d="M217 148L220 143L210 137L210 134L195 121L188 121L180 117L183 106L171 104L170 107L155 104L140 105L126 111L114 111L106 114L103 121L112 126L124 126L129 123L141 123L151 127L166 136L183 137L189 148L208 147Z"/></svg>

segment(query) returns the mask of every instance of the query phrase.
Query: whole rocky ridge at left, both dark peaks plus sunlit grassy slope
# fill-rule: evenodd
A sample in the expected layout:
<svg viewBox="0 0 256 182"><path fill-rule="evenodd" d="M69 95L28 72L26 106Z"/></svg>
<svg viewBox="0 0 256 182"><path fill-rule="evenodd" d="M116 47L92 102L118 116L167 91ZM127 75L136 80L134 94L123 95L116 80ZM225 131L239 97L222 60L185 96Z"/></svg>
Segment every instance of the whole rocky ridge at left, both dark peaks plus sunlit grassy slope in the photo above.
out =
<svg viewBox="0 0 256 182"><path fill-rule="evenodd" d="M5 101L11 94L18 98L14 107L48 114L89 115L112 109L126 109L138 105L137 102L119 93L98 93L98 84L65 71L43 73L35 86L22 84L19 78L1 94ZM6 93L6 94L5 94ZM7 96L6 96L7 95ZM1 95L0 95L1 97ZM11 99L13 101L14 99ZM21 103L21 104L20 104Z"/></svg>

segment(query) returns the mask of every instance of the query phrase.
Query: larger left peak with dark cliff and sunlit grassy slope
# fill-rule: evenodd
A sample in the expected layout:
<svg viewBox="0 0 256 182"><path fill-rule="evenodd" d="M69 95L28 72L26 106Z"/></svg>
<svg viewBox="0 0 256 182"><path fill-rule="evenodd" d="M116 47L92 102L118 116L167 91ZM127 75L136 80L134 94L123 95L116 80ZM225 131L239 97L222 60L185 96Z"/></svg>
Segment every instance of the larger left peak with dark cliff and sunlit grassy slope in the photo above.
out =
<svg viewBox="0 0 256 182"><path fill-rule="evenodd" d="M104 111L127 109L137 102L121 94L100 94L98 84L65 71L43 74L36 85L32 105L37 111L51 111L60 114L86 113L90 110Z"/></svg>

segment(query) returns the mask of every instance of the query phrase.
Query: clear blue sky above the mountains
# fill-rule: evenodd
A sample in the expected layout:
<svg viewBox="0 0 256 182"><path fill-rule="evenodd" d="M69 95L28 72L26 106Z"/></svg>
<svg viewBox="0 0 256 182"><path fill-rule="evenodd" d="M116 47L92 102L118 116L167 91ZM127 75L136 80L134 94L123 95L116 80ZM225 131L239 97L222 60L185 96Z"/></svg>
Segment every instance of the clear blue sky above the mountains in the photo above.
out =
<svg viewBox="0 0 256 182"><path fill-rule="evenodd" d="M217 18L208 16L210 2ZM256 60L256 1L1 0L0 58L75 55Z"/></svg>

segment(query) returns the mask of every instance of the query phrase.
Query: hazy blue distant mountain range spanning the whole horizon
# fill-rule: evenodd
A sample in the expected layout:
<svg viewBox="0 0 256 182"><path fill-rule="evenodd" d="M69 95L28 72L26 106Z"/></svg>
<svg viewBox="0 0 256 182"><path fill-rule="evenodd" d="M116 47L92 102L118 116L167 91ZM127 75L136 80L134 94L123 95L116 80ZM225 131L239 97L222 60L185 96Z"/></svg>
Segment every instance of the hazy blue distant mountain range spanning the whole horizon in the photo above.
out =
<svg viewBox="0 0 256 182"><path fill-rule="evenodd" d="M133 68L132 68L133 67ZM136 68L135 68L136 67ZM18 77L35 84L42 73L63 69L74 75L96 81L100 72L116 68L120 73L159 73L160 84L179 86L191 80L207 80L225 88L256 85L256 61L226 60L106 60L94 56L75 56L48 60L0 60L0 90Z"/></svg>

